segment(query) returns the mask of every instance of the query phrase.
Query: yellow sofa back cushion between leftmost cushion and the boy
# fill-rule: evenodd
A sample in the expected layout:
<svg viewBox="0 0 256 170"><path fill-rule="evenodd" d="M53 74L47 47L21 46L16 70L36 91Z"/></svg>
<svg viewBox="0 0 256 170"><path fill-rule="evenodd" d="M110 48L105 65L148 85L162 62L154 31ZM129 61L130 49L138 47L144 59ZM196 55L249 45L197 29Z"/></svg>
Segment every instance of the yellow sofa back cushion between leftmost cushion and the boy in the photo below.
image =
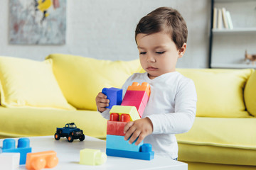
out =
<svg viewBox="0 0 256 170"><path fill-rule="evenodd" d="M95 97L103 88L121 88L140 69L139 60L112 62L61 54L46 59L53 60L53 72L68 103L87 110L97 109Z"/></svg>

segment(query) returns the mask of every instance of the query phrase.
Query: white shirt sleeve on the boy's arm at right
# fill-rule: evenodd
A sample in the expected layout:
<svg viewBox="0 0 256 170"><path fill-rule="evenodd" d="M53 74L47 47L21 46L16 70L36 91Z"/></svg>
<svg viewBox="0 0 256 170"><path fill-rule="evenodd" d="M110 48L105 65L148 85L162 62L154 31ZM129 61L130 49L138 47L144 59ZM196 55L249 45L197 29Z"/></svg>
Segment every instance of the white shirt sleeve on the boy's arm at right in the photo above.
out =
<svg viewBox="0 0 256 170"><path fill-rule="evenodd" d="M188 132L196 117L196 87L188 79L177 89L175 97L175 112L149 115L153 124L153 134L178 134Z"/></svg>

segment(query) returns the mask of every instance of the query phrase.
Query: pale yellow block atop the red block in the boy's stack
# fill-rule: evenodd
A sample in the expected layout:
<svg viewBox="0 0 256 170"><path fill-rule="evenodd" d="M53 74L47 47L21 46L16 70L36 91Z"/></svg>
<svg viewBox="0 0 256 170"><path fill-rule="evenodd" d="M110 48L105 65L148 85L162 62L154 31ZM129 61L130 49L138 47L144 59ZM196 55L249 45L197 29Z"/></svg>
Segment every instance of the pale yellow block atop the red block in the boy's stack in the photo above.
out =
<svg viewBox="0 0 256 170"><path fill-rule="evenodd" d="M118 113L119 115L128 114L128 115L130 115L132 121L140 119L139 113L135 106L117 106L117 105L115 105L110 110L110 114L111 113Z"/></svg>

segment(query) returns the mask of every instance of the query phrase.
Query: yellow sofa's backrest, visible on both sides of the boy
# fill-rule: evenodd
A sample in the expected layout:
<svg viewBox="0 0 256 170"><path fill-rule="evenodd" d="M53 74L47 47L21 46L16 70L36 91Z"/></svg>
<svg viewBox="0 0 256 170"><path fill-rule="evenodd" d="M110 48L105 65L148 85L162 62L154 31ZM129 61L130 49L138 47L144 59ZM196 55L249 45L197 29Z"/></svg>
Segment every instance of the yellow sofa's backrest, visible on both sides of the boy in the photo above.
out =
<svg viewBox="0 0 256 170"><path fill-rule="evenodd" d="M95 60L53 54L53 73L65 99L78 109L96 110L95 96L105 87L121 88L134 72L144 72L139 60ZM196 116L247 118L256 116L256 72L253 69L177 69L192 79L198 94ZM1 81L1 80L0 80ZM1 101L1 98L0 98Z"/></svg>

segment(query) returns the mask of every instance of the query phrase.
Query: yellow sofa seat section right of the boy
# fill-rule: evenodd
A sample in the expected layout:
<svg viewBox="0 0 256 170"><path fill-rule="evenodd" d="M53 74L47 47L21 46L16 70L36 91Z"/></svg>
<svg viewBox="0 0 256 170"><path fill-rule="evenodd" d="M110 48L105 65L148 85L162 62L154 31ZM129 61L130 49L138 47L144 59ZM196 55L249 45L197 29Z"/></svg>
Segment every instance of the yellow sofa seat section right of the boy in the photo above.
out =
<svg viewBox="0 0 256 170"><path fill-rule="evenodd" d="M178 159L212 164L256 165L256 118L196 118L176 135Z"/></svg>

